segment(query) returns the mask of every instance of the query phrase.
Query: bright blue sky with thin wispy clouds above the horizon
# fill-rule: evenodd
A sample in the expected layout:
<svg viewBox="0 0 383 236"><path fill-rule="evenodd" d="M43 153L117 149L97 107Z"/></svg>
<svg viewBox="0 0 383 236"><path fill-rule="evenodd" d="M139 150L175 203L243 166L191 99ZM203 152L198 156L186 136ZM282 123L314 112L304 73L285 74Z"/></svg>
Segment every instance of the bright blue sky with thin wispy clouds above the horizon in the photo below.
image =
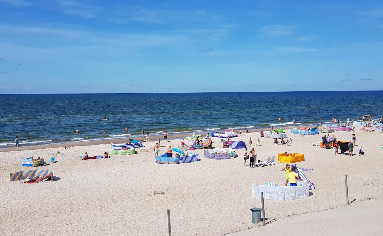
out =
<svg viewBox="0 0 383 236"><path fill-rule="evenodd" d="M380 0L0 0L0 15L0 94L382 89Z"/></svg>

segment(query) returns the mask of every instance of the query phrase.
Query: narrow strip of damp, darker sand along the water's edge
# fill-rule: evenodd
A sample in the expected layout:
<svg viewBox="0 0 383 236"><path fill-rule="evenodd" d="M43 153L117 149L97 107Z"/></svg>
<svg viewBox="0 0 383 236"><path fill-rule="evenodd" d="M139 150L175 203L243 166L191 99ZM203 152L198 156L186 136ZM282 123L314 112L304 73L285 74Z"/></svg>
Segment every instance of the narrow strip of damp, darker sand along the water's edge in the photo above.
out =
<svg viewBox="0 0 383 236"><path fill-rule="evenodd" d="M319 123L321 124L321 123ZM298 126L307 126L307 125L313 125L313 124L299 124L299 125L289 125L289 126L283 126L283 125L278 125L274 128L283 128L283 129L293 129ZM271 126L270 126L271 127ZM249 133L255 133L259 132L261 130L268 130L264 128L249 128ZM205 130L206 131L206 130ZM208 130L209 134L211 132L222 132L225 130ZM234 130L237 132L243 131L242 129ZM243 133L242 132L242 133ZM206 132L207 133L207 132ZM185 138L187 135L191 135L192 133L185 132L182 134L171 134L168 135L168 139L182 139ZM204 132L201 132L201 134L205 134ZM113 143L121 143L129 139L141 139L141 135L139 136L132 136L128 138L116 138L116 139L97 139L97 140L88 140L88 141L67 141L67 142L57 142L57 143L52 143L52 144L35 144L35 145L25 145L25 146L20 146L20 147L0 147L0 152L14 152L14 151L24 151L24 150L36 150L36 149L49 149L49 148L57 148L57 147L64 147L64 146L69 146L69 147L80 147L80 146L88 146L88 145L98 145L98 144L110 144L111 142ZM156 137L156 139L154 139ZM153 142L154 140L157 140L158 137L162 137L162 134L155 134L151 135L149 142ZM161 138L161 140L162 140Z"/></svg>

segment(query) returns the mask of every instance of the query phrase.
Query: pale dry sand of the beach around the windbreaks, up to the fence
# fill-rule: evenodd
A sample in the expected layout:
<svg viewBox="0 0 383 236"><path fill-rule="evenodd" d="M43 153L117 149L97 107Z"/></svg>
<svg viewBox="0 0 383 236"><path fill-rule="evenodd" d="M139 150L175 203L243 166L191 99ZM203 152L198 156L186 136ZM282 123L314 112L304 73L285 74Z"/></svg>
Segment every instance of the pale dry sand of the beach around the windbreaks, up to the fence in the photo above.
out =
<svg viewBox="0 0 383 236"><path fill-rule="evenodd" d="M310 190L311 196L300 200L267 201L265 209L269 221L284 218L286 214L298 215L345 205L344 175L349 175L350 201L382 197L383 134L380 130L360 132L357 129L356 155L352 157L334 155L333 149L313 146L311 143L321 140L322 133L302 136L291 134L290 129L285 132L293 140L289 146L275 145L273 139L268 138L260 139L260 146L255 146L258 132L240 134L232 139L244 141L248 146L249 137L252 137L250 148L254 147L260 160L282 152L304 153L306 160L296 165L313 169L304 172L316 186L315 190ZM352 140L351 132L330 134L335 134L340 141ZM212 140L213 147L222 147L220 138ZM204 158L203 150L193 150L199 154L197 162L161 165L155 162L154 144L153 141L144 143L144 147L136 149L135 155L98 160L81 160L79 156L84 152L90 156L102 155L109 152L110 144L74 146L69 150L52 147L1 152L0 234L109 235L105 231L113 228L116 232L134 235L167 235L166 210L169 208L172 235L219 235L254 226L249 207L260 207L260 201L251 196L252 183L265 185L273 181L280 186L285 183L285 172L280 171L284 163L250 168L247 162L244 166L243 149L237 149L239 156L230 160ZM161 142L161 146L160 155L168 146L180 147L180 139ZM359 156L361 146L366 154ZM21 166L21 157L31 156L45 160L56 157L56 163L38 167L53 170L56 180L21 185L9 182L10 172L36 169ZM371 179L375 181L368 184ZM357 185L362 187L355 188ZM214 218L218 215L216 206L228 211L221 209L219 218ZM237 214L236 209L241 213ZM310 217L315 220L315 215ZM252 230L257 231L257 228Z"/></svg>

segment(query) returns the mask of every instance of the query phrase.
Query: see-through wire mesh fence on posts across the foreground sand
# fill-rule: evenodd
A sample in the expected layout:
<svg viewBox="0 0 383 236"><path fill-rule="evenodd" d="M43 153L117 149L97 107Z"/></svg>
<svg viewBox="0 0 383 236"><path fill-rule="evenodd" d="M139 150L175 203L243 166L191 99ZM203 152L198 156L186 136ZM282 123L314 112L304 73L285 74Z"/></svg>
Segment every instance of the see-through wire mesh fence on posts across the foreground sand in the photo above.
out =
<svg viewBox="0 0 383 236"><path fill-rule="evenodd" d="M251 186L243 187L251 191ZM306 198L285 201L264 200L262 210L265 212L266 223L291 215L319 212L352 204L355 201L380 198L383 196L383 173L348 175L347 177L343 175L316 182L315 187L316 189L310 190L310 196ZM348 199L346 199L347 193ZM250 208L253 207L262 208L262 200L252 196L238 197L187 208L172 208L168 211L164 209L163 212L137 218L108 219L104 224L89 228L72 225L70 227L73 230L51 232L49 235L215 236L257 226L258 224L252 223ZM259 225L261 224L262 221Z"/></svg>

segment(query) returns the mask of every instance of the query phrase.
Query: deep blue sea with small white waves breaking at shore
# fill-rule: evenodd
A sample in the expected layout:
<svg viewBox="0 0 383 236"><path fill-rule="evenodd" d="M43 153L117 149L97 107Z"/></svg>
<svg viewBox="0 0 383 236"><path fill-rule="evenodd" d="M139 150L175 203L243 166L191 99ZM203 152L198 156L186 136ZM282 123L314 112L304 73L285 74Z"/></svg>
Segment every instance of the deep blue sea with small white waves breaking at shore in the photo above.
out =
<svg viewBox="0 0 383 236"><path fill-rule="evenodd" d="M383 114L383 91L2 94L0 147L359 119ZM108 116L110 120L102 120ZM278 118L282 122L278 122ZM129 134L125 135L125 127ZM80 133L76 134L75 130ZM105 129L105 134L102 131Z"/></svg>

